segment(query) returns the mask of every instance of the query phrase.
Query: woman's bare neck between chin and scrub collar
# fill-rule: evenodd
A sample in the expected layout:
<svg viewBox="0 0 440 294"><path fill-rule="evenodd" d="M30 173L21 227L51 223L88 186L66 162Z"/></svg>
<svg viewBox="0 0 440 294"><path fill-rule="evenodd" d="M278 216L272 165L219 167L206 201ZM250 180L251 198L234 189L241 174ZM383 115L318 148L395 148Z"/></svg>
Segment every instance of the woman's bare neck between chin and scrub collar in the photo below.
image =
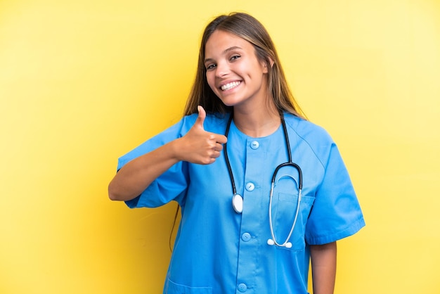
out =
<svg viewBox="0 0 440 294"><path fill-rule="evenodd" d="M234 124L247 136L259 138L273 134L280 127L281 119L276 110L261 108L249 112L234 108Z"/></svg>

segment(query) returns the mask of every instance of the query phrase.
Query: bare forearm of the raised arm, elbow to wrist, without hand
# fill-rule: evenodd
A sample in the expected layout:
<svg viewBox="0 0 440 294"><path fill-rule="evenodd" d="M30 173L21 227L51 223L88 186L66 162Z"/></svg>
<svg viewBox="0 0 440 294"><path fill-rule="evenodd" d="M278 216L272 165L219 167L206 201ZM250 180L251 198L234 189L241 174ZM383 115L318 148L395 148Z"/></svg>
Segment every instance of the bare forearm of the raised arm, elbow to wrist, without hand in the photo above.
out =
<svg viewBox="0 0 440 294"><path fill-rule="evenodd" d="M139 196L157 177L179 162L175 145L176 141L172 141L124 165L108 185L109 198L131 200Z"/></svg>

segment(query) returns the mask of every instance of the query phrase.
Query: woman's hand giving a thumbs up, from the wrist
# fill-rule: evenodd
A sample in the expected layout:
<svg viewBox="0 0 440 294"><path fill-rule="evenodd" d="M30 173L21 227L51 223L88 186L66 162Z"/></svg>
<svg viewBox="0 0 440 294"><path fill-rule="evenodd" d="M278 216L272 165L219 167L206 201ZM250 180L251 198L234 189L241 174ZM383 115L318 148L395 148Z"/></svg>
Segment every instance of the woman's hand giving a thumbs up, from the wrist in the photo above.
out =
<svg viewBox="0 0 440 294"><path fill-rule="evenodd" d="M223 144L228 141L226 136L206 132L203 127L206 112L198 106L199 116L193 127L180 140L180 159L200 165L209 165L220 156Z"/></svg>

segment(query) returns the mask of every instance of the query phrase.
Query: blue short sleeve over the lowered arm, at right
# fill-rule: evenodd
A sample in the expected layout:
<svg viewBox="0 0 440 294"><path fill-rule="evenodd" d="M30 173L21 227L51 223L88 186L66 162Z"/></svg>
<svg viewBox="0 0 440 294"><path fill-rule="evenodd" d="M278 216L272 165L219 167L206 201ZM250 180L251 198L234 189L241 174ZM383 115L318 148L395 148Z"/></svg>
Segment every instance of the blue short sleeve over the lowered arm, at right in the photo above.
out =
<svg viewBox="0 0 440 294"><path fill-rule="evenodd" d="M351 236L365 222L347 168L335 143L330 146L325 172L316 191L306 225L309 245L331 243Z"/></svg>

